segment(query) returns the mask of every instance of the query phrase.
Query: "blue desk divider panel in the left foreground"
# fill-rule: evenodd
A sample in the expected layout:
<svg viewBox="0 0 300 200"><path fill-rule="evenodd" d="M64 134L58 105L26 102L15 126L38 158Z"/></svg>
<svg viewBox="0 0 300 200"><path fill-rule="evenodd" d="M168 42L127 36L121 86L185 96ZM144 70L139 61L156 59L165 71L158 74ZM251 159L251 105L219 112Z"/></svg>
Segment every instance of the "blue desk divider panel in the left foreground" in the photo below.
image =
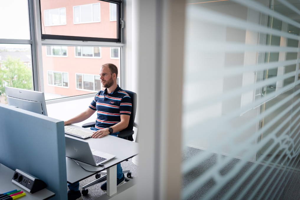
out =
<svg viewBox="0 0 300 200"><path fill-rule="evenodd" d="M67 199L64 122L0 104L0 163L47 184L52 199Z"/></svg>

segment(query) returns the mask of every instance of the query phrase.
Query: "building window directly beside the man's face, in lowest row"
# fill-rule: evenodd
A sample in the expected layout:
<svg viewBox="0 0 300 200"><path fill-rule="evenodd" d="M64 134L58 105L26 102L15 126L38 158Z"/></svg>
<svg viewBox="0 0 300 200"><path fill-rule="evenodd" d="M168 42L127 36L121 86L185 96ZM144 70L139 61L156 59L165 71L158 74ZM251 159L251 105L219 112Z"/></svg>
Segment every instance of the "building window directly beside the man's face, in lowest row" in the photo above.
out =
<svg viewBox="0 0 300 200"><path fill-rule="evenodd" d="M88 91L100 91L101 80L99 75L76 73L76 89Z"/></svg>

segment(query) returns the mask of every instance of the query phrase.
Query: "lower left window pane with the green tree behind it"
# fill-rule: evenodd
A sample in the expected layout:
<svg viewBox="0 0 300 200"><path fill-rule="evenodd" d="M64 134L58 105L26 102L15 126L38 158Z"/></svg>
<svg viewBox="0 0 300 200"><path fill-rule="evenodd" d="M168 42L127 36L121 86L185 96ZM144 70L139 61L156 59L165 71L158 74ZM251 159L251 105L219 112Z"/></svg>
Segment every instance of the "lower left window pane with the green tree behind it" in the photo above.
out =
<svg viewBox="0 0 300 200"><path fill-rule="evenodd" d="M29 44L0 43L0 103L7 103L5 86L33 90L31 55Z"/></svg>

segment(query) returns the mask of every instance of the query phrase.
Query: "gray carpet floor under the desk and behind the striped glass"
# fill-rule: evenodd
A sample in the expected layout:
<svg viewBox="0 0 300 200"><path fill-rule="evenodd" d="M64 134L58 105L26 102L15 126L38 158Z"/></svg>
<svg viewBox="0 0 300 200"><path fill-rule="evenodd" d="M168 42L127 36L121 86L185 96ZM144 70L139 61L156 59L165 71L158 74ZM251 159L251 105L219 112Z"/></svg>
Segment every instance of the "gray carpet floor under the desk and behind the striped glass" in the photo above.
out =
<svg viewBox="0 0 300 200"><path fill-rule="evenodd" d="M186 151L182 155L182 160L187 161L189 159L192 159L195 155L197 155L201 152L204 152L204 151L196 149L196 148L187 147ZM211 156L208 157L204 162L200 163L189 173L185 174L182 177L182 189L187 188L197 177L199 177L200 175L207 172L212 166L216 165L218 157L224 158L226 156L212 153ZM221 169L219 171L220 175L226 175L227 173L229 173L232 169L232 166L236 165L240 161L241 160L239 160L239 159L233 158L223 169ZM231 180L229 180L226 184L224 184L223 188L221 188L217 193L214 194L214 196L211 198L211 200L222 199L224 197L224 195L235 185L235 183L241 177L243 177L244 173L247 172L247 170L253 165L255 165L255 163L247 162L246 165L244 165L243 168L239 172L237 172L236 175ZM138 167L134 163L132 163L132 159L129 159L129 161L125 161L125 162L121 163L121 166L122 166L123 170L128 170L128 169L131 170L132 178L137 177ZM273 172L271 173L271 176L269 176L266 179L266 181L262 184L262 186L259 188L258 192L256 193L256 195L253 198L253 199L258 199L259 195L262 193L262 191L265 189L265 187L267 187L267 185L269 184L270 179L272 178L272 174L275 173L275 171L277 170L277 169L272 169L271 167L267 167L263 171L262 175L256 180L256 182L252 186L248 186L248 183L252 180L252 178L256 175L256 173L258 173L259 169L261 169L262 167L263 167L262 165L256 166L255 170L251 173L251 175L249 175L247 177L247 179L239 186L239 188L232 193L232 196L229 199L230 200L237 199L239 194L244 190L247 190L247 193L241 199L249 199L249 196L252 195L252 192L256 189L256 186L260 183L260 181L265 177L266 173L268 173L269 170L273 170ZM282 172L282 171L280 171L280 172ZM279 172L279 174L281 174L280 172ZM287 172L285 171L283 173L287 173ZM291 172L289 172L287 177L289 177L290 174L291 174ZM126 176L126 174L125 174L125 176ZM270 184L271 187L275 184L275 182L277 181L278 178L280 178L280 177L276 177L273 180L273 183ZM278 194L276 194L274 199L280 199L280 200L289 200L289 199L290 200L299 200L300 199L300 190L299 190L300 174L292 173L292 178L295 178L294 181L285 180L286 187L279 188L279 193L283 190L281 196L278 196ZM96 179L95 176L91 176L83 181L80 181L79 182L79 190L81 191L82 186L94 181L95 179ZM88 195L83 196L83 199L84 200L95 199L95 198L105 194L105 192L103 192L100 189L101 184L97 184L97 185L89 187ZM124 184L126 184L126 183L124 183ZM208 180L202 187L199 187L198 190L196 190L193 194L191 194L191 196L189 196L188 199L189 200L202 199L207 193L210 192L210 190L215 185L216 185L216 182L213 179ZM267 189L267 193L269 192L271 187L269 187ZM277 189L277 186L275 187L275 190L276 189ZM267 193L264 194L261 199L267 200Z"/></svg>

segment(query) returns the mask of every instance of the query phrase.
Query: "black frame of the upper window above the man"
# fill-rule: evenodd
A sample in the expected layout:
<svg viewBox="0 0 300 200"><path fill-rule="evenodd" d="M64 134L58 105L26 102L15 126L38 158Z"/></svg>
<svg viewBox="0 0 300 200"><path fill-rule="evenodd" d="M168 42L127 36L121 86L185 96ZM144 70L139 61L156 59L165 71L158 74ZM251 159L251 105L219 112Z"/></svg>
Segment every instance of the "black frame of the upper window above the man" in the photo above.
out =
<svg viewBox="0 0 300 200"><path fill-rule="evenodd" d="M41 39L42 40L77 40L77 41L96 41L96 42L115 42L121 43L122 37L122 25L121 25L121 0L101 0L109 3L117 4L117 38L103 38L103 37L83 37L83 36L69 36L69 35L52 35L52 34L43 34L42 31L42 14L41 14L41 0L39 0L40 6L40 23L41 23Z"/></svg>

